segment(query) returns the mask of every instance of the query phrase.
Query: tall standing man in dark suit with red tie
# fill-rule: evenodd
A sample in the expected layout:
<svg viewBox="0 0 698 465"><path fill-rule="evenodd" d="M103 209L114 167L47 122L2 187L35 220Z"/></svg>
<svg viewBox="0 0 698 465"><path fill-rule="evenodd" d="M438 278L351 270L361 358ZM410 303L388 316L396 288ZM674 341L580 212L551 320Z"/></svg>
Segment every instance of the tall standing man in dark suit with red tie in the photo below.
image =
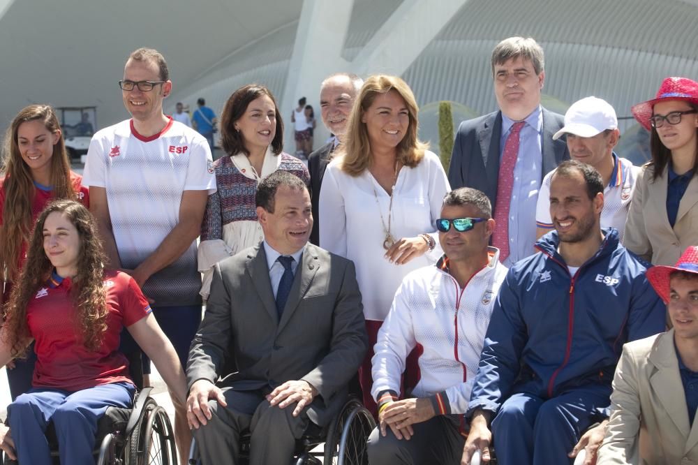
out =
<svg viewBox="0 0 698 465"><path fill-rule="evenodd" d="M534 252L535 207L544 175L570 158L565 140L553 140L562 115L540 106L543 50L533 38L502 40L492 52L499 110L463 121L456 133L448 180L489 197L497 223L492 245L511 266Z"/></svg>

